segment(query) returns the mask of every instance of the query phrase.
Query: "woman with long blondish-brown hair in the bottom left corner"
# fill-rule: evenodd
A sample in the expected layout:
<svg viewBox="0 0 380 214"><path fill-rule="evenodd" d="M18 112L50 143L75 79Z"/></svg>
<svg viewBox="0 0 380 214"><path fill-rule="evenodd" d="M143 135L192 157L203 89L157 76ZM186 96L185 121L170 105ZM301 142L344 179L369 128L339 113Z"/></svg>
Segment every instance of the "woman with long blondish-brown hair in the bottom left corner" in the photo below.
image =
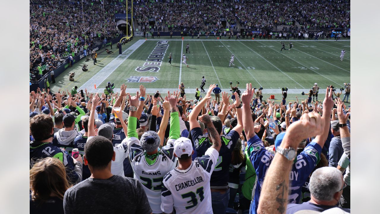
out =
<svg viewBox="0 0 380 214"><path fill-rule="evenodd" d="M30 213L63 214L63 195L70 184L57 158L47 157L30 169Z"/></svg>

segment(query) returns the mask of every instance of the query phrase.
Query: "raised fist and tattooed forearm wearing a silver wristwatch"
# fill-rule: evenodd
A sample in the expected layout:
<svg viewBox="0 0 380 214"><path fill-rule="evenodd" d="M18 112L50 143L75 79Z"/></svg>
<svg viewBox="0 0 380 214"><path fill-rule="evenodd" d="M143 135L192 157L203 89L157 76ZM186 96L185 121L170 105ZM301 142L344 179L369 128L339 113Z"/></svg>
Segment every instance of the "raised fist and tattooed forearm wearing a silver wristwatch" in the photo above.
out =
<svg viewBox="0 0 380 214"><path fill-rule="evenodd" d="M280 147L297 150L299 142L323 131L325 121L317 113L302 115L289 128ZM329 124L327 124L329 126ZM285 213L288 202L289 173L293 161L275 155L266 172L257 213Z"/></svg>

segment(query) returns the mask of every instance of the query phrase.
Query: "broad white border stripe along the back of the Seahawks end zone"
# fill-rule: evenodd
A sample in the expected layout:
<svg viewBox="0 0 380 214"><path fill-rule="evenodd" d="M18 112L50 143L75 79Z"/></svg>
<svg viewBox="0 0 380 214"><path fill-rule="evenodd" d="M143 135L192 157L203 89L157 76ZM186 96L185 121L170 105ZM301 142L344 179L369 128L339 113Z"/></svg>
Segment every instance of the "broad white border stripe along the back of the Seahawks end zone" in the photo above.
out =
<svg viewBox="0 0 380 214"><path fill-rule="evenodd" d="M131 45L127 50L123 51L122 54L117 56L114 60L108 63L103 69L101 69L98 73L93 75L86 83L84 83L80 88L93 88L93 85L96 84L97 87L114 72L117 67L119 67L135 50L137 50L142 43L146 40L138 40L133 45Z"/></svg>

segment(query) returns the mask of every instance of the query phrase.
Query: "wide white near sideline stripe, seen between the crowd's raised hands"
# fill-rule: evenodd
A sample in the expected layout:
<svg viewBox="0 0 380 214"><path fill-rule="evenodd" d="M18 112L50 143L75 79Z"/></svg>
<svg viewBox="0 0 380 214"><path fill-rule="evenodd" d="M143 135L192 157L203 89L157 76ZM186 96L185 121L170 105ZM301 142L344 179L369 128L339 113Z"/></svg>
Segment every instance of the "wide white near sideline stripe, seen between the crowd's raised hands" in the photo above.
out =
<svg viewBox="0 0 380 214"><path fill-rule="evenodd" d="M168 91L177 91L178 88L147 88L146 93L154 94L157 92L157 90L160 91L161 94L165 94ZM104 91L104 88L97 88L97 89L90 88L90 89L87 89L87 91L89 91L90 93L97 93L97 92L100 93L100 92ZM127 88L126 89L126 92L131 93L131 95L135 95L136 91L139 91L139 88ZM195 88L186 88L185 89L186 93L192 93L193 91L195 91ZM227 93L231 93L230 89L222 89L222 91L227 92ZM294 88L288 89L288 94L301 94L302 91L308 92L308 89L307 89L307 91L305 91L305 89L294 89ZM114 92L120 93L120 88L114 88ZM206 90L206 93L207 93L207 90ZM280 88L278 88L278 89L266 89L266 88L264 88L263 89L263 94L281 94L281 93L282 93L282 91ZM326 93L326 89L319 89L319 93L320 94Z"/></svg>

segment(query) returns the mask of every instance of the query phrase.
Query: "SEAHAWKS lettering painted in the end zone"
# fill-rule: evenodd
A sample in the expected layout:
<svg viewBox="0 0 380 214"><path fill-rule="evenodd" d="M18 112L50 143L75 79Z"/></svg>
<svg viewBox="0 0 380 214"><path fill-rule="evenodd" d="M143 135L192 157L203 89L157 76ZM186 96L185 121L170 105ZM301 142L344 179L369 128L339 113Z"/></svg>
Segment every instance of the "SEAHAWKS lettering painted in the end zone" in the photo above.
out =
<svg viewBox="0 0 380 214"><path fill-rule="evenodd" d="M167 40L158 41L157 45L146 59L146 62L135 70L137 72L158 72L165 57L166 50L169 48L168 42L169 41Z"/></svg>

